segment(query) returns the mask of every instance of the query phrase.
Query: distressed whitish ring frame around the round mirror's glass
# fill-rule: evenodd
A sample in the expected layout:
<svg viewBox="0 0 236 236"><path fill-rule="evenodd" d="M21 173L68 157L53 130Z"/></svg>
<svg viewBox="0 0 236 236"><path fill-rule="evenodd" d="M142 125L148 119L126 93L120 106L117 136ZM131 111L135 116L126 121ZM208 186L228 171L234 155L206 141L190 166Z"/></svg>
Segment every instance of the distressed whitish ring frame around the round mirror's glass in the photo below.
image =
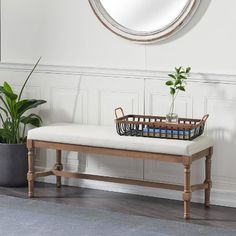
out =
<svg viewBox="0 0 236 236"><path fill-rule="evenodd" d="M169 38L182 27L184 27L196 12L201 0L189 0L182 13L170 24L157 31L152 32L137 32L131 29L125 28L118 22L112 19L112 17L103 8L100 0L88 0L95 15L101 21L101 23L116 35L136 42L157 42Z"/></svg>

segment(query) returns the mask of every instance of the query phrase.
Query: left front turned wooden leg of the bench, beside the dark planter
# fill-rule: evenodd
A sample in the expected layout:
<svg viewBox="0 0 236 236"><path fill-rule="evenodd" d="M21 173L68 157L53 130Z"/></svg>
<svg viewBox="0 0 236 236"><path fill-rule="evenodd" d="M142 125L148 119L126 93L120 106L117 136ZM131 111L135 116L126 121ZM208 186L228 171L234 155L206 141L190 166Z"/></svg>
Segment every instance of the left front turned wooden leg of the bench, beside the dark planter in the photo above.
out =
<svg viewBox="0 0 236 236"><path fill-rule="evenodd" d="M32 198L34 196L34 149L32 147L28 148L28 197Z"/></svg>

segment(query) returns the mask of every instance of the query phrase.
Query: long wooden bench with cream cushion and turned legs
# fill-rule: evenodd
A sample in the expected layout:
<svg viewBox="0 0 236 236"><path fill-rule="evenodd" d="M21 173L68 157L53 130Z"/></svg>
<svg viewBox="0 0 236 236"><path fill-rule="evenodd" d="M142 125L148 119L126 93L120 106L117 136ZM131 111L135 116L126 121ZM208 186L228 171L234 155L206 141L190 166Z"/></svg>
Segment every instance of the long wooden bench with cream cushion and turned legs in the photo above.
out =
<svg viewBox="0 0 236 236"><path fill-rule="evenodd" d="M119 136L116 133L115 127L63 123L30 130L28 132L27 147L29 162L29 171L27 175L29 197L33 197L34 195L34 180L37 177L55 175L57 187L61 186L61 177L64 176L182 191L185 219L190 217L190 201L191 193L193 191L205 189L205 206L209 206L210 204L213 143L207 136L200 136L193 141L128 137ZM56 150L56 164L52 170L35 172L33 161L34 148ZM63 171L61 163L62 150L180 163L184 166L184 184L176 185L145 180L66 172ZM191 185L191 164L193 161L203 157L206 157L205 181L200 184Z"/></svg>

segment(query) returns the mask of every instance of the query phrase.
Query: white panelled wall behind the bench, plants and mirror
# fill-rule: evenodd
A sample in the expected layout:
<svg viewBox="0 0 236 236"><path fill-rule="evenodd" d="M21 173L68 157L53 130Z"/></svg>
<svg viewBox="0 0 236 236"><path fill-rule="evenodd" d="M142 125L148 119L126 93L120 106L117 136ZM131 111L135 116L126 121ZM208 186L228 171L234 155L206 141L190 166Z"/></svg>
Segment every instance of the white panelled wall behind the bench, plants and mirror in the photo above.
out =
<svg viewBox="0 0 236 236"><path fill-rule="evenodd" d="M210 114L207 133L215 140L215 204L236 206L236 23L235 0L202 1L190 25L173 39L141 45L123 40L94 16L87 0L2 0L1 81L19 88L30 65L43 56L26 95L48 102L39 111L45 124L58 121L113 125L113 110L164 115L164 86L174 66L192 66L188 92L178 99L181 116ZM224 9L224 17L222 10ZM192 26L192 28L190 27ZM39 167L53 164L41 151ZM155 161L64 153L67 169L112 176L181 183L182 166ZM193 181L203 179L203 161ZM47 181L54 181L48 178ZM66 180L67 184L181 199L181 194L134 186ZM194 194L202 201L202 193Z"/></svg>

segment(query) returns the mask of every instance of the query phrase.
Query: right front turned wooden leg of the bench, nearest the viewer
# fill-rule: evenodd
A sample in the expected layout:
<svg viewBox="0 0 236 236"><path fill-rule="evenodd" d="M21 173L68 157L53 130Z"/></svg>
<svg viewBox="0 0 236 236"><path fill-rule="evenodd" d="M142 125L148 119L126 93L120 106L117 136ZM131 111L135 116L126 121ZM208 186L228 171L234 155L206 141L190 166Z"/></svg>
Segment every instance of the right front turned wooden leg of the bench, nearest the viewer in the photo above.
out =
<svg viewBox="0 0 236 236"><path fill-rule="evenodd" d="M191 175L191 166L190 164L184 165L184 219L190 218L190 202L191 202L191 183L190 183L190 175Z"/></svg>

